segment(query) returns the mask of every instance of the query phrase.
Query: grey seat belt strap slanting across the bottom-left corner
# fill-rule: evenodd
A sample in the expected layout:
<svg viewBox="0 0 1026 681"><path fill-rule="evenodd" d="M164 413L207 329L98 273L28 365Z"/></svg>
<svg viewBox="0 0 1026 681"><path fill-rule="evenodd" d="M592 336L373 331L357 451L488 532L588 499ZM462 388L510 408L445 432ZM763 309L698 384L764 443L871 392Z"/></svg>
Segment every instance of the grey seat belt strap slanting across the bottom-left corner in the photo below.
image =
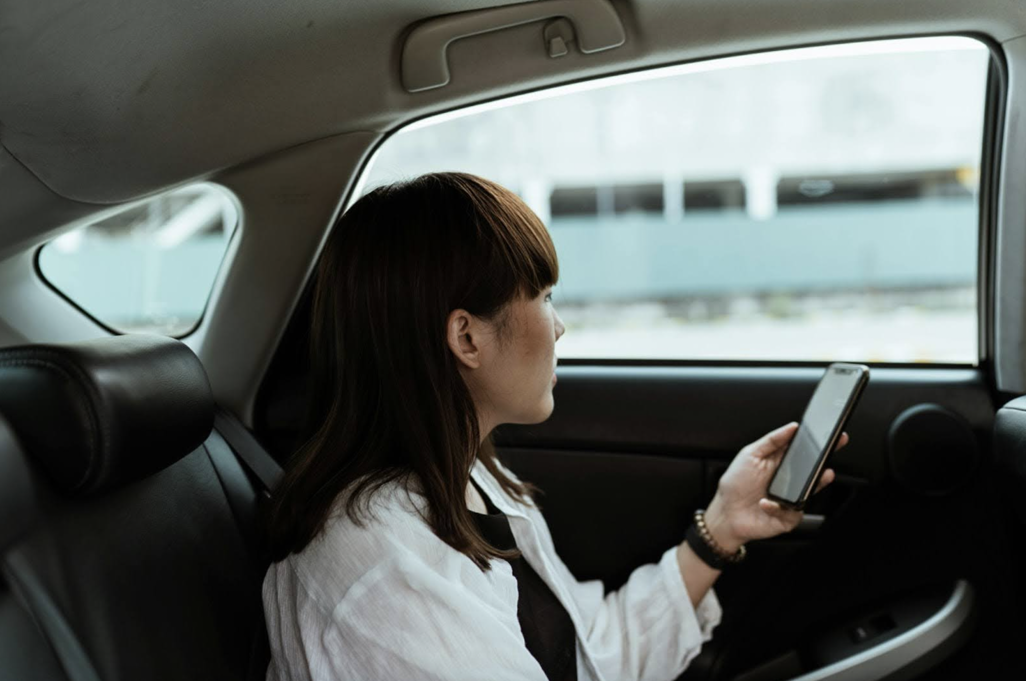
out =
<svg viewBox="0 0 1026 681"><path fill-rule="evenodd" d="M75 638L68 622L46 589L39 583L32 567L16 551L4 557L4 575L14 597L29 611L36 626L53 648L53 653L68 675L69 681L100 681L89 656Z"/></svg>

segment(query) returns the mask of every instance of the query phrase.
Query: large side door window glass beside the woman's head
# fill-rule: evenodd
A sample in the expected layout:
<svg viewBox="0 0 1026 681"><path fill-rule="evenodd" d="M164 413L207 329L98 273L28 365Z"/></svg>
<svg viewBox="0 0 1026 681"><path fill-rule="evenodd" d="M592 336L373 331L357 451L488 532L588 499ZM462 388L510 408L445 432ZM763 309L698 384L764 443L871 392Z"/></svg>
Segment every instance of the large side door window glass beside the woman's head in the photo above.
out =
<svg viewBox="0 0 1026 681"><path fill-rule="evenodd" d="M990 55L961 37L617 76L419 121L365 176L517 192L560 357L975 363Z"/></svg>

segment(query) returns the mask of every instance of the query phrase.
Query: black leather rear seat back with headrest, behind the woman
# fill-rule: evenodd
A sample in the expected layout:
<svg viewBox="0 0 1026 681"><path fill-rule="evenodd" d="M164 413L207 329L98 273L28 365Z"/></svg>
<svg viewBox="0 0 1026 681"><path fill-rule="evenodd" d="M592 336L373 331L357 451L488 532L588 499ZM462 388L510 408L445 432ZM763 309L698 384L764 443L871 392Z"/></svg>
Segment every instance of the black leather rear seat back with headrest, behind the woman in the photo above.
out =
<svg viewBox="0 0 1026 681"><path fill-rule="evenodd" d="M69 676L263 678L258 490L223 441L211 458L196 356L155 335L10 348L0 386L40 514L4 562L81 644Z"/></svg>

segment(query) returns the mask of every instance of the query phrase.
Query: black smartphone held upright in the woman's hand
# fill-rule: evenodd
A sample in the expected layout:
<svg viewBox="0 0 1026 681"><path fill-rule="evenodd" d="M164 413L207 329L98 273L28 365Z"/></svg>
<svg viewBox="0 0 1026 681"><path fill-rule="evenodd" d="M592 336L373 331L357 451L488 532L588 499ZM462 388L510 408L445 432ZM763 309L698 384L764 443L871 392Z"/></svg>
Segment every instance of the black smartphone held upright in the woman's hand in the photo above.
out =
<svg viewBox="0 0 1026 681"><path fill-rule="evenodd" d="M864 364L835 362L827 367L770 481L767 497L788 509L804 508L868 383L869 367Z"/></svg>

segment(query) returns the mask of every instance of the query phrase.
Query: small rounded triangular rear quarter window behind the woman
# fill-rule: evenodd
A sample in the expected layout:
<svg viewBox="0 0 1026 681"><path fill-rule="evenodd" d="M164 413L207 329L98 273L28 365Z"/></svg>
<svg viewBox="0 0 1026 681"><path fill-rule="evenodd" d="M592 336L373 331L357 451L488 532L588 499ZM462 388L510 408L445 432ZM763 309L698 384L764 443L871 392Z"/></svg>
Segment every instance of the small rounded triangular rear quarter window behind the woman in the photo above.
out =
<svg viewBox="0 0 1026 681"><path fill-rule="evenodd" d="M181 336L203 315L237 222L227 192L193 185L61 235L39 270L115 330Z"/></svg>

